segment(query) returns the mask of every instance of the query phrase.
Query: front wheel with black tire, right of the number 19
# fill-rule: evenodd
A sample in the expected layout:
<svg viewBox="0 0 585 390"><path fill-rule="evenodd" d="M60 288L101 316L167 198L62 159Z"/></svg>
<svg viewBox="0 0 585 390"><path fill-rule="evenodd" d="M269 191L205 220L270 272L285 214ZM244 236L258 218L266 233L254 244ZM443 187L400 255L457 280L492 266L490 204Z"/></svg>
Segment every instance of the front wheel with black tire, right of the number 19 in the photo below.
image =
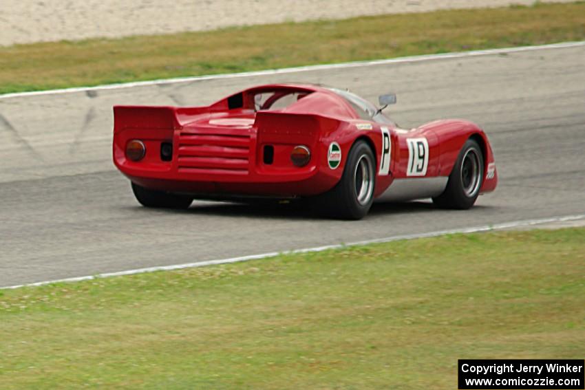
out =
<svg viewBox="0 0 585 390"><path fill-rule="evenodd" d="M440 208L467 210L476 203L483 184L484 160L481 148L475 140L467 140L449 175L447 188L433 198Z"/></svg>

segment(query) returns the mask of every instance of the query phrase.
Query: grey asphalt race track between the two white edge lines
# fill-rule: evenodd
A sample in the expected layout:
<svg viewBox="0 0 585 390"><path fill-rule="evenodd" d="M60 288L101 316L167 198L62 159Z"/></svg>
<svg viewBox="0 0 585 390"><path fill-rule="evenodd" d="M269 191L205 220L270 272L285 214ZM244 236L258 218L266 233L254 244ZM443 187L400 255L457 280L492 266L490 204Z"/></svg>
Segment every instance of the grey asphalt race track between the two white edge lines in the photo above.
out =
<svg viewBox="0 0 585 390"><path fill-rule="evenodd" d="M0 286L585 213L585 46L0 99ZM467 118L500 185L468 211L375 204L362 221L290 205L138 206L111 163L111 105L195 105L255 83L395 91L403 127ZM585 238L584 238L585 239Z"/></svg>

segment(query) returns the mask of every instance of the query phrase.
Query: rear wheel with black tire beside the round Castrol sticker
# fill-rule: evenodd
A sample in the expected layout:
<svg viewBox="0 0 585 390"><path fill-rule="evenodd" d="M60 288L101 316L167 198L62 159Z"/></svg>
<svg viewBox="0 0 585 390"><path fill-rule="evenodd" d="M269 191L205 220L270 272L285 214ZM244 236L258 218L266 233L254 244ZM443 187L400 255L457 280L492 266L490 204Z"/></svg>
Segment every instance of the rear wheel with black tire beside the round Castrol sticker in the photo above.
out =
<svg viewBox="0 0 585 390"><path fill-rule="evenodd" d="M314 206L328 217L361 219L372 207L375 184L374 152L365 141L359 140L350 149L339 183L314 199Z"/></svg>

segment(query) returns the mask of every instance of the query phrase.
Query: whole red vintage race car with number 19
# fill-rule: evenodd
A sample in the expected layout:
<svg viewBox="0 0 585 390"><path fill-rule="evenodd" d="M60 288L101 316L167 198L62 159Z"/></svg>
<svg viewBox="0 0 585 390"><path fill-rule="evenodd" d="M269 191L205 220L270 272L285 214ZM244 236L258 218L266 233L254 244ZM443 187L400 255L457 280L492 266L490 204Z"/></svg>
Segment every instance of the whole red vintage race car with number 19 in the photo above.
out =
<svg viewBox="0 0 585 390"><path fill-rule="evenodd" d="M209 107L114 107L114 163L140 204L198 199L308 199L333 217L374 200L432 198L466 209L496 188L485 133L465 120L400 129L382 109L330 87L273 84Z"/></svg>

